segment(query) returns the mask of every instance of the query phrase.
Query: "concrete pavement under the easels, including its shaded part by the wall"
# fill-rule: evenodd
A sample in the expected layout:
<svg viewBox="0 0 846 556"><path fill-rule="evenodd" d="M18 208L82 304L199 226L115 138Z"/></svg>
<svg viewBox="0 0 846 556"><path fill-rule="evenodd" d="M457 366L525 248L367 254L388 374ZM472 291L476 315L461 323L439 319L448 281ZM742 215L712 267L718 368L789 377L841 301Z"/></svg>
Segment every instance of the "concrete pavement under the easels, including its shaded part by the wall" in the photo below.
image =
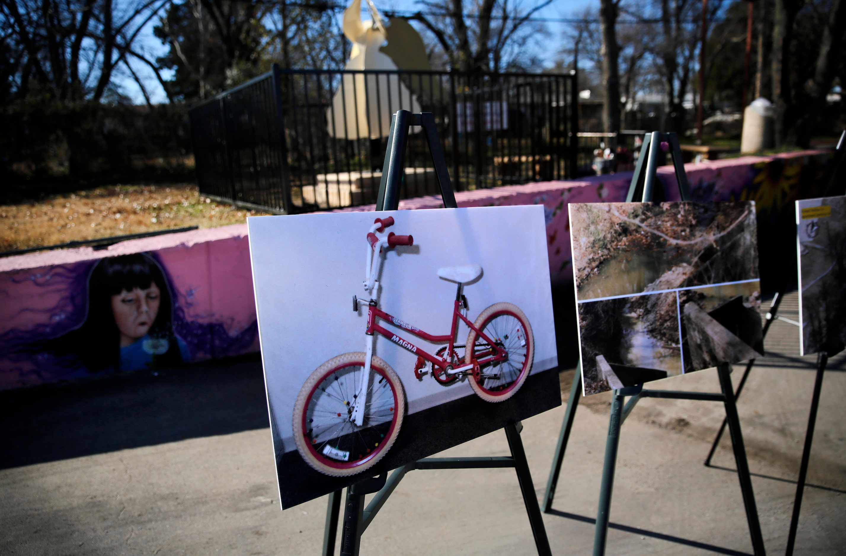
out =
<svg viewBox="0 0 846 556"><path fill-rule="evenodd" d="M793 318L795 297L786 301ZM814 358L788 355L796 329L781 322L767 348L739 412L766 548L783 553ZM796 554L843 553L846 542L846 357L831 369L808 477L819 488L805 492ZM566 393L573 372L561 376ZM650 386L718 390L713 370ZM278 509L263 388L259 362L246 359L0 394L0 553L319 553L326 499ZM609 401L591 396L577 413L556 511L544 515L555 554L591 553ZM722 415L706 401L635 408L608 554L751 552L736 474L702 465ZM539 498L562 417L563 407L524 422ZM507 453L504 433L492 433L442 455ZM728 439L714 463L733 467ZM361 553L534 553L513 470L410 472Z"/></svg>

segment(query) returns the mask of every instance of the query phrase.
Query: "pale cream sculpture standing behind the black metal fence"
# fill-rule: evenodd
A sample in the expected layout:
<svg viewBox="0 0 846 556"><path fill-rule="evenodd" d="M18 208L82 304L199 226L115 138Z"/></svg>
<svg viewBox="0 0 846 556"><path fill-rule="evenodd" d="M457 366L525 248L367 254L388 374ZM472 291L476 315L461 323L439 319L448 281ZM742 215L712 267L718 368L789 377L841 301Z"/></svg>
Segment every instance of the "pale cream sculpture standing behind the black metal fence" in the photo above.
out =
<svg viewBox="0 0 846 556"><path fill-rule="evenodd" d="M371 0L367 5L373 19L361 20L361 0L353 0L343 12L343 34L353 42L345 69L396 70L393 60L379 52L387 39L382 16ZM344 74L327 109L329 134L336 139L387 137L391 115L400 108L420 112L417 98L397 74ZM409 133L419 130L412 127Z"/></svg>

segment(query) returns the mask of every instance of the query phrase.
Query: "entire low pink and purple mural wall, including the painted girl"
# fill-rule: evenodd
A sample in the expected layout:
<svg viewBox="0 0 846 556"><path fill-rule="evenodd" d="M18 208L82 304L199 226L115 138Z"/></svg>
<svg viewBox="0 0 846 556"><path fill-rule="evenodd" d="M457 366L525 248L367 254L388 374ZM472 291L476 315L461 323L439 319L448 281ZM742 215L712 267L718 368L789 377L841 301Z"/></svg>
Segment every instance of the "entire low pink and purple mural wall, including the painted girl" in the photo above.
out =
<svg viewBox="0 0 846 556"><path fill-rule="evenodd" d="M803 151L685 169L694 199L755 200L759 235L767 237L760 248L766 281L767 264L782 274L785 261L795 264L783 258L793 253L783 243L793 241L793 201L818 196L829 156ZM666 199L677 200L672 167L658 176ZM623 201L630 179L621 172L465 191L456 199L462 207L543 204L552 283L568 286L567 204ZM440 206L438 196L399 204ZM256 332L246 225L0 259L0 390L255 352Z"/></svg>

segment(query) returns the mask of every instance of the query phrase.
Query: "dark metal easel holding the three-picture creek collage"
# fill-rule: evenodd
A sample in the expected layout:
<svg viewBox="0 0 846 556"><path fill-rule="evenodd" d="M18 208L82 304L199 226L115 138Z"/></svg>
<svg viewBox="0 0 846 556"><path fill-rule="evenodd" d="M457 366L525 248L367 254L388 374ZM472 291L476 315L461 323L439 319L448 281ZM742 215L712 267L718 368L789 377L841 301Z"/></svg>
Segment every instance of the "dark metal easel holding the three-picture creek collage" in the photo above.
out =
<svg viewBox="0 0 846 556"><path fill-rule="evenodd" d="M683 201L690 200L690 188L687 175L684 173L684 163L682 162L678 137L676 134L672 133L662 134L659 132L652 132L651 134L647 134L645 136L643 146L640 149L641 155L634 168L634 176L632 176L632 182L629 186L629 194L626 196L627 203L634 201L634 199L637 199L638 197L640 197L644 202L651 201L657 177L658 150L661 148L662 141L666 141L672 149L673 166L675 168L676 180L678 182L678 190L681 199ZM646 152L649 153L648 156L644 155ZM645 172L644 165L646 165ZM717 375L720 379L722 393L644 390L643 384L637 384L635 386L629 386L627 388L613 391L611 417L608 423L608 437L605 446L605 462L602 466L602 487L600 489L599 510L596 514L596 532L594 535L593 545L593 553L595 556L601 556L605 553L608 520L611 510L611 496L613 492L614 468L617 464L620 427L625 421L625 418L628 417L629 413L632 409L634 409L635 404L637 404L641 398L671 398L676 400L706 400L723 402L723 405L726 408L728 431L732 438L734 459L738 467L738 477L740 481L740 490L741 493L743 493L746 520L749 522L752 548L755 552L755 556L765 554L764 539L761 534L761 524L758 521L758 511L755 506L755 493L752 490L749 464L746 461L746 450L744 447L743 435L740 431L740 420L738 417L732 380L729 373L731 373L731 365L728 363L722 363L717 366ZM550 513L552 510L552 499L555 497L555 488L558 484L558 477L561 472L564 452L567 450L570 429L573 426L573 418L575 416L576 407L579 403L580 390L581 362L579 363L579 368L576 369L576 376L573 380L573 388L570 390L567 410L564 413L561 433L558 436L558 446L556 447L555 455L552 460L552 469L550 470L549 480L547 482L547 492L544 495L543 502L543 511L546 513ZM628 402L625 402L626 396L631 396Z"/></svg>

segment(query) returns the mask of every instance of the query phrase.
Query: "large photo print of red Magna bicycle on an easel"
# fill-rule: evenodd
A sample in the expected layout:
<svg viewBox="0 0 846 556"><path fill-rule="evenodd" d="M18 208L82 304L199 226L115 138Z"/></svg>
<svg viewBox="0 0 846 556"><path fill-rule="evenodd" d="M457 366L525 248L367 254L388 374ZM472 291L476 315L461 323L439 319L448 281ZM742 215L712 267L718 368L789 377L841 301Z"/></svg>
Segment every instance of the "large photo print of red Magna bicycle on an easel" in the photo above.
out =
<svg viewBox="0 0 846 556"><path fill-rule="evenodd" d="M283 509L560 404L542 207L249 225Z"/></svg>

